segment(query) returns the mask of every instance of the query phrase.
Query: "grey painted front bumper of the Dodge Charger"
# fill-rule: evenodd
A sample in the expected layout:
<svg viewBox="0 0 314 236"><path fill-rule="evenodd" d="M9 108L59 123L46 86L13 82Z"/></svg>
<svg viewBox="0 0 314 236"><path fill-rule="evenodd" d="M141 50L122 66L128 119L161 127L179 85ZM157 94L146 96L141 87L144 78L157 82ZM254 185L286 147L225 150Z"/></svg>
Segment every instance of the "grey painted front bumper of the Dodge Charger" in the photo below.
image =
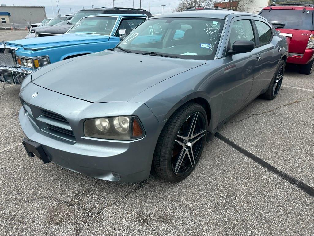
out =
<svg viewBox="0 0 314 236"><path fill-rule="evenodd" d="M34 91L39 95L31 98ZM26 86L20 97L31 106L64 116L73 128L76 142L66 142L39 129L23 107L21 108L19 122L26 138L41 144L51 162L71 171L109 181L137 182L149 177L155 145L166 121L159 122L145 104L132 102L92 104L33 84ZM57 106L53 101L58 101ZM130 115L132 112L132 115L138 116L146 136L132 141L84 137L84 118L112 116L113 110L117 111L116 115Z"/></svg>

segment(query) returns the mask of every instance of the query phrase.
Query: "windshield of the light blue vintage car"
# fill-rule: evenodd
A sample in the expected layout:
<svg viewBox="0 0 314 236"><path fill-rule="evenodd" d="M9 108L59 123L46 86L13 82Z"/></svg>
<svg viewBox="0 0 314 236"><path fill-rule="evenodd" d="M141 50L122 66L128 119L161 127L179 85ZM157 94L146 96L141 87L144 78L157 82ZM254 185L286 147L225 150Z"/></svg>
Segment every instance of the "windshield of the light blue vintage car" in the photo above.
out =
<svg viewBox="0 0 314 236"><path fill-rule="evenodd" d="M75 24L67 34L101 34L110 35L117 17L112 16L93 16L86 17Z"/></svg>

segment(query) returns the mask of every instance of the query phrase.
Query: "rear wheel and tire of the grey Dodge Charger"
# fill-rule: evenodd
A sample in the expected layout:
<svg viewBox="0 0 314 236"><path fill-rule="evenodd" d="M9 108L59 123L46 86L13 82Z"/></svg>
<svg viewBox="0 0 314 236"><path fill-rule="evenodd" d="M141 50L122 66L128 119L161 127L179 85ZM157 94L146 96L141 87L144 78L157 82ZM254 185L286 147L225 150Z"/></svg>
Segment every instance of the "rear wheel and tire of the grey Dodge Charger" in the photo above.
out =
<svg viewBox="0 0 314 236"><path fill-rule="evenodd" d="M282 81L284 79L284 67L285 62L283 60L280 60L275 71L275 74L273 76L273 79L270 81L266 93L263 94L263 98L268 100L273 100L274 98L276 98L280 91Z"/></svg>

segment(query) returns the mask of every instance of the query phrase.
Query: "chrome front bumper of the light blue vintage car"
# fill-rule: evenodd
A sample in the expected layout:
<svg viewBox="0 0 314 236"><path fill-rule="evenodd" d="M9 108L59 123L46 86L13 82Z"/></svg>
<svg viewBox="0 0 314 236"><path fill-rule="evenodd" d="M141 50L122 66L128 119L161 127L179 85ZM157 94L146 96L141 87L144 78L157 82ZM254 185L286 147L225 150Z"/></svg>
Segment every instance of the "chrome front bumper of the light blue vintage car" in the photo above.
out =
<svg viewBox="0 0 314 236"><path fill-rule="evenodd" d="M0 66L0 82L8 84L21 84L26 76L33 70Z"/></svg>

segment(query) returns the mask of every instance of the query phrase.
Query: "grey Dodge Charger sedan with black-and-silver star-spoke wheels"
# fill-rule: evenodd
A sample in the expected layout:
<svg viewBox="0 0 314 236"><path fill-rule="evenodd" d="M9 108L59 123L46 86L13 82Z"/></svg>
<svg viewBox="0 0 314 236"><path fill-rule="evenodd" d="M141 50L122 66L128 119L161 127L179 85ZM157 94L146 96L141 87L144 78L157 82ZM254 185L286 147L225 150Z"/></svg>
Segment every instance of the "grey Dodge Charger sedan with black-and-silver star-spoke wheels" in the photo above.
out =
<svg viewBox="0 0 314 236"><path fill-rule="evenodd" d="M277 96L287 56L286 38L256 14L155 16L113 49L26 77L23 145L44 163L104 180L141 181L154 168L181 181L225 121L259 95Z"/></svg>

